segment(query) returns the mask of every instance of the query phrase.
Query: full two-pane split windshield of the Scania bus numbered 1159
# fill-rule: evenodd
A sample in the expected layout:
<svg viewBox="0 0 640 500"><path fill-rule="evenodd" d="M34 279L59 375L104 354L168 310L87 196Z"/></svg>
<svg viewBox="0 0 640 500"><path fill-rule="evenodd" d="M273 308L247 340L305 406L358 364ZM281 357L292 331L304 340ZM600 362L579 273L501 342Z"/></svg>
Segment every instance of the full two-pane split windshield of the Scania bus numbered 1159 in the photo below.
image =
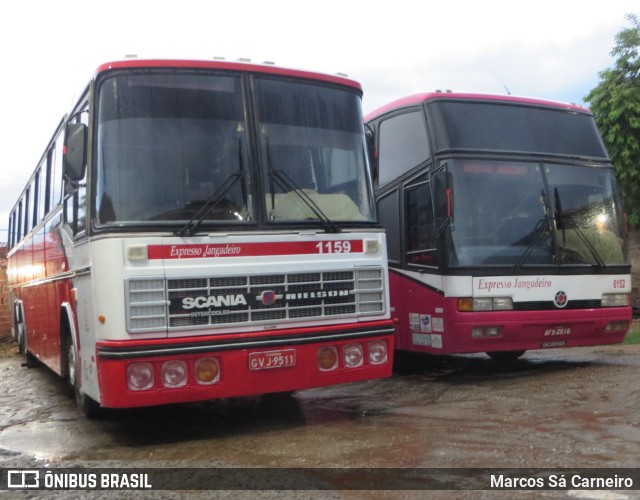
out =
<svg viewBox="0 0 640 500"><path fill-rule="evenodd" d="M243 78L147 70L103 79L94 224L228 230L372 221L359 95Z"/></svg>

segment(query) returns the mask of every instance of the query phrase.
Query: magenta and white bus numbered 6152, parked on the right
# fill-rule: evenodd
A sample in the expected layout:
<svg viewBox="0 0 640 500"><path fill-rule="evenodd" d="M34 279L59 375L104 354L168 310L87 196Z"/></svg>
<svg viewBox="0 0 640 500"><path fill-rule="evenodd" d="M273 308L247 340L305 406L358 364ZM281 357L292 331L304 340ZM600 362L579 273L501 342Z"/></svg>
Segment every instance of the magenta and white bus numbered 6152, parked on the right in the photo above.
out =
<svg viewBox="0 0 640 500"><path fill-rule="evenodd" d="M396 349L504 360L623 340L624 213L586 109L434 92L365 121Z"/></svg>

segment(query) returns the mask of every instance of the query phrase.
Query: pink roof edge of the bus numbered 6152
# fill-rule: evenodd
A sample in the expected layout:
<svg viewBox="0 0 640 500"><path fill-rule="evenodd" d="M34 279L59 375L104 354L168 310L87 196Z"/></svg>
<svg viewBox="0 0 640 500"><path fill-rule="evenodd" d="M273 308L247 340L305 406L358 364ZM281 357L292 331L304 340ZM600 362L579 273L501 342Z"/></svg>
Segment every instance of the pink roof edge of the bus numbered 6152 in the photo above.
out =
<svg viewBox="0 0 640 500"><path fill-rule="evenodd" d="M501 94L474 94L474 93L465 93L465 92L420 92L417 94L409 95L406 97L402 97L395 101L385 104L384 106L368 113L364 121L368 122L381 116L389 111L393 111L395 109L407 108L411 106L417 106L426 101L432 101L436 99L447 99L447 100L469 100L469 101L497 101L497 102L512 102L516 104L528 104L535 106L547 106L553 108L561 108L572 111L578 111L581 113L589 113L589 110L578 106L576 104L570 104L559 101L552 101L547 99L537 99L532 97L518 97L512 95L501 95Z"/></svg>

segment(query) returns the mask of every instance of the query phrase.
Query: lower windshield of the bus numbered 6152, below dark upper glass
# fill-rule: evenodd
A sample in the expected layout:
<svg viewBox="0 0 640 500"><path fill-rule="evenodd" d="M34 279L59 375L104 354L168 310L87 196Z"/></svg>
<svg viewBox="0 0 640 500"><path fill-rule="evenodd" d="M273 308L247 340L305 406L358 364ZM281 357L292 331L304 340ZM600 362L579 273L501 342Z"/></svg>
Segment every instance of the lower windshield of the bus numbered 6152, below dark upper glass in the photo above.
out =
<svg viewBox="0 0 640 500"><path fill-rule="evenodd" d="M454 160L453 266L625 262L613 171Z"/></svg>

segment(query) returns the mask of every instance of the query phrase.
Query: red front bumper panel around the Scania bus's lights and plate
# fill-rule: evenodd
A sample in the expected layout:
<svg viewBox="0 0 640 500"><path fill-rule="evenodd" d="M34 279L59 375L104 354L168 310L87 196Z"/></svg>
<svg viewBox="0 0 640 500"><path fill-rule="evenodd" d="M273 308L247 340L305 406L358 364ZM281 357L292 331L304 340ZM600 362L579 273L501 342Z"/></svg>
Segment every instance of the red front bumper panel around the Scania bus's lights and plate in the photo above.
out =
<svg viewBox="0 0 640 500"><path fill-rule="evenodd" d="M389 326L391 326L389 322ZM386 362L373 365L366 358L362 366L344 367L342 361L337 369L320 371L317 350L321 343L284 345L277 350L295 349L295 366L251 369L249 355L262 349L239 349L215 353L200 353L138 359L99 359L98 377L101 388L100 403L104 407L126 408L152 406L168 403L185 403L217 398L259 395L273 392L289 392L312 387L322 387L345 382L384 378L391 375L393 337L376 336L366 340L346 340L331 342L339 352L345 345L373 341L387 343L389 357ZM100 345L100 344L99 344ZM267 349L268 350L268 349ZM365 350L366 353L366 350ZM96 355L98 355L96 353ZM220 365L220 380L210 385L200 385L194 379L197 359L216 358ZM163 361L180 359L188 366L188 382L180 388L161 388L161 366ZM134 362L150 363L153 366L155 384L149 390L132 391L127 388L127 367Z"/></svg>

